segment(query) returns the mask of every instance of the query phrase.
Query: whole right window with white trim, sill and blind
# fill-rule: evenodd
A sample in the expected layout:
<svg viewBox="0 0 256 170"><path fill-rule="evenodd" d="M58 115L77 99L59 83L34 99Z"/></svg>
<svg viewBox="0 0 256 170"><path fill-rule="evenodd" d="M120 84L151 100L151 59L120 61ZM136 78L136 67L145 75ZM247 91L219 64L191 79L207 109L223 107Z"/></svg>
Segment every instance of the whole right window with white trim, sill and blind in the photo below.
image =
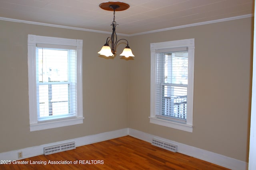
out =
<svg viewBox="0 0 256 170"><path fill-rule="evenodd" d="M150 45L150 123L192 132L194 39Z"/></svg>

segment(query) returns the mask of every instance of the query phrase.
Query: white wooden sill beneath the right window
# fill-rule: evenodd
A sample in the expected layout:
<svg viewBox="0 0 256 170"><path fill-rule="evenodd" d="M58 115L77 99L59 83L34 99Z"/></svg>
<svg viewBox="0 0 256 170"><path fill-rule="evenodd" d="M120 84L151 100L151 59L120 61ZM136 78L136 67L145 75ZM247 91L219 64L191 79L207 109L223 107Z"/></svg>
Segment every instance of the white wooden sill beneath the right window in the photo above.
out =
<svg viewBox="0 0 256 170"><path fill-rule="evenodd" d="M166 126L166 127L171 127L174 129L179 129L182 131L187 131L187 132L193 132L193 126L192 125L188 125L185 123L178 123L175 121L169 121L169 120L164 120L164 119L160 119L157 117L149 117L150 118L150 123L154 123L157 125L162 125L162 126Z"/></svg>

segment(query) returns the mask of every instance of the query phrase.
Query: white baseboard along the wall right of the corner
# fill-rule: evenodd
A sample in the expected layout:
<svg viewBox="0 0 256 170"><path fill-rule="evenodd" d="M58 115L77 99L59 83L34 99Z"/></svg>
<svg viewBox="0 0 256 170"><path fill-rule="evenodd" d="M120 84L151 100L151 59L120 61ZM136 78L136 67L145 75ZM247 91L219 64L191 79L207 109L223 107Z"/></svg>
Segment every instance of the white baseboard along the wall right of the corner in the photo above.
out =
<svg viewBox="0 0 256 170"><path fill-rule="evenodd" d="M178 143L178 142L164 139L164 138L161 138L158 136L150 135L148 133L144 133L142 131L137 131L137 130L131 129L131 128L129 128L128 133L132 137L141 139L143 141L147 141L149 143L151 143L153 137L155 137L162 141L166 141L168 143L178 145L178 152L180 152L182 154L186 154L186 155L189 155L189 156L201 159L201 160L205 160L207 162L211 162L213 164L217 164L217 165L220 165L220 166L232 169L232 170L248 170L248 162L230 158L228 156L210 152L208 150L191 147L189 145L184 145L182 143Z"/></svg>

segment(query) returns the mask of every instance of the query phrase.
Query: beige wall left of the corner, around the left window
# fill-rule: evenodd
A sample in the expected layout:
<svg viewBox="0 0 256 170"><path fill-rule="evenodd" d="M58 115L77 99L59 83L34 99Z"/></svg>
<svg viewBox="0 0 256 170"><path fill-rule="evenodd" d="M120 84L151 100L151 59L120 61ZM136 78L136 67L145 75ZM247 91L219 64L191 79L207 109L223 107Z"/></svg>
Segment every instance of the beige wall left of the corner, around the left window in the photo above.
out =
<svg viewBox="0 0 256 170"><path fill-rule="evenodd" d="M128 127L128 64L97 54L109 35L8 21L0 30L0 152ZM83 39L83 124L30 132L28 34Z"/></svg>

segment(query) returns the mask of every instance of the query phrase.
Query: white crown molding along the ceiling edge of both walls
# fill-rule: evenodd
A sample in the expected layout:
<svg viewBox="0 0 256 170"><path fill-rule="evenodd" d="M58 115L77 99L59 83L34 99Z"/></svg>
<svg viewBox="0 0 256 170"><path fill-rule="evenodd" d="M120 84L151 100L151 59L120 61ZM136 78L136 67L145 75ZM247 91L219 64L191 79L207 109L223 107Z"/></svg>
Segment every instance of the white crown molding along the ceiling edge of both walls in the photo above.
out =
<svg viewBox="0 0 256 170"><path fill-rule="evenodd" d="M235 17L230 17L230 18L223 18L223 19L220 19L220 20L212 20L212 21L192 23L192 24L188 24L188 25L180 25L180 26L177 26L177 27L156 29L156 30L146 31L146 32L141 32L141 33L134 33L134 34L117 33L117 35L132 37L132 36L135 36L135 35L143 35L143 34L148 34L148 33L168 31L168 30L172 30L172 29L180 29L180 28L186 28L186 27L194 27L194 26L198 26L198 25L206 25L206 24L210 24L210 23L238 20L238 19L242 19L242 18L250 18L250 17L253 17L253 16L254 16L253 14L247 14L247 15L235 16ZM12 18L4 18L4 17L0 17L0 20L11 21L11 22L20 22L20 23L28 23L28 24L34 24L34 25L43 25L43 26L48 26L48 27L59 27L59 28L66 28L66 29L74 29L74 30L80 30L80 31L89 31L89 32L96 32L96 33L106 33L106 34L111 34L112 33L112 32L99 31L99 30L94 30L94 29L85 29L85 28L70 27L70 26L56 25L56 24L50 24L50 23L33 22L33 21L26 21L26 20L16 20L16 19L12 19Z"/></svg>

